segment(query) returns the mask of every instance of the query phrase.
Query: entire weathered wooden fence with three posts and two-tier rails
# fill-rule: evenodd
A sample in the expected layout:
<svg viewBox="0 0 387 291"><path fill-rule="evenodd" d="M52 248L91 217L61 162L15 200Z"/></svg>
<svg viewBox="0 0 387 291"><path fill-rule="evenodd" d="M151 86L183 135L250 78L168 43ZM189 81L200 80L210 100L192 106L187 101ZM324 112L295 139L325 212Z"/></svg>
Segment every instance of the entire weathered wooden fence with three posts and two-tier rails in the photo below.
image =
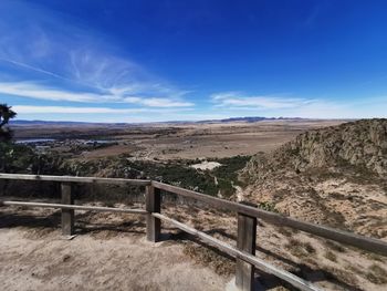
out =
<svg viewBox="0 0 387 291"><path fill-rule="evenodd" d="M356 247L370 252L387 256L387 242L378 239L358 236L348 231L337 230L325 226L300 221L279 214L258 209L257 207L238 204L180 187L167 185L159 181L140 180L140 179L117 179L117 178L94 178L94 177L70 177L70 176L35 176L19 174L0 174L0 179L17 180L42 180L61 183L62 204L43 204L43 202L24 202L24 201L0 201L0 206L24 206L24 207L50 207L62 209L62 233L72 236L74 233L74 210L92 211L115 211L146 215L147 228L146 236L149 241L159 240L161 221L174 225L176 228L198 237L201 241L210 245L229 256L237 259L236 284L240 290L254 289L254 268L291 283L300 290L320 290L311 282L303 280L285 270L279 269L262 259L254 256L257 219L262 219L273 225L291 227L318 237L342 242L347 246ZM74 195L72 184L74 183L95 183L95 184L118 184L132 186L146 186L145 208L146 209L127 209L112 207L94 207L74 205ZM161 209L161 190L175 195L199 200L220 210L229 210L238 214L238 237L237 248L221 240L218 240L202 231L194 229L185 224L160 214Z"/></svg>

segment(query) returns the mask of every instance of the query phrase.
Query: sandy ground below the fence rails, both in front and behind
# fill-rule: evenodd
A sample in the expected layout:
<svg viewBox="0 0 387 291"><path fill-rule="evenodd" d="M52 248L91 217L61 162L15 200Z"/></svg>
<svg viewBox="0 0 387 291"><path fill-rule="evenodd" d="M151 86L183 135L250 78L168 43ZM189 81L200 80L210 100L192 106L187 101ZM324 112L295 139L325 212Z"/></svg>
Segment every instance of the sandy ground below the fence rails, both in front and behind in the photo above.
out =
<svg viewBox="0 0 387 291"><path fill-rule="evenodd" d="M119 205L116 205L118 207ZM234 215L165 205L167 216L236 245ZM73 240L60 212L0 209L1 290L224 290L234 262L163 224L164 241L145 240L144 218L77 211ZM387 259L259 221L257 256L323 290L386 290ZM287 290L257 272L264 290Z"/></svg>

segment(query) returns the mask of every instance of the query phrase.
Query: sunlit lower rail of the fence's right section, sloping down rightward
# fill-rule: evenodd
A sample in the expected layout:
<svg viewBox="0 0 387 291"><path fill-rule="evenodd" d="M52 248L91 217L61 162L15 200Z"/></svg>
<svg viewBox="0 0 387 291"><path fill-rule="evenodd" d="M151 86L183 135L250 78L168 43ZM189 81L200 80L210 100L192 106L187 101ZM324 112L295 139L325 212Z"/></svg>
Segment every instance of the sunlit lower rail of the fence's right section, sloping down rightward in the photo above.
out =
<svg viewBox="0 0 387 291"><path fill-rule="evenodd" d="M287 271L281 270L279 268L276 268L275 266L272 266L270 263L266 263L265 261L248 253L244 251L240 251L238 249L236 249L234 247L219 240L216 239L202 231L199 231L195 228L188 227L175 219L171 219L167 216L160 215L160 214L151 214L154 217L169 222L171 225L174 225L175 227L177 227L178 229L181 229L182 231L186 231L192 236L196 236L198 238L200 238L203 242L228 253L229 256L233 257L233 258L240 258L247 262L250 262L252 264L254 264L257 268L259 268L260 270L266 272L266 273L271 273L276 276L278 278L281 278L282 280L291 283L292 285L299 288L300 290L305 290L305 291L316 291L316 290L322 290L318 289L317 287L313 285L311 282L307 282L299 277L296 277L295 274L292 274Z"/></svg>

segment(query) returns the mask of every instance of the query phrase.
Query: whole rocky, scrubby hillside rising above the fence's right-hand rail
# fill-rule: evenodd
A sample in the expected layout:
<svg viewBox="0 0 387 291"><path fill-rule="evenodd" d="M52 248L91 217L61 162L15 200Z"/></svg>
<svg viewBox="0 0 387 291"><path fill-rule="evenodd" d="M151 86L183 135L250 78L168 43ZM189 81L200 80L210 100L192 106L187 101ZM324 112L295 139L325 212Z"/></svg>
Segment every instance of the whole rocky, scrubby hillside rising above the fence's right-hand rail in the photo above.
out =
<svg viewBox="0 0 387 291"><path fill-rule="evenodd" d="M243 199L387 239L387 119L306 132L241 173Z"/></svg>

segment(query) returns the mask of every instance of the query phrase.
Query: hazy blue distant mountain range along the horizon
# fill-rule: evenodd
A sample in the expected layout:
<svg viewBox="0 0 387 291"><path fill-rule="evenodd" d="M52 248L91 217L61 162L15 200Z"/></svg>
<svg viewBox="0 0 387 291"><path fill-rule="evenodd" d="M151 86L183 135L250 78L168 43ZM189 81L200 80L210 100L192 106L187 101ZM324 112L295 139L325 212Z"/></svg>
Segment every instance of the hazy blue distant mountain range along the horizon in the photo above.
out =
<svg viewBox="0 0 387 291"><path fill-rule="evenodd" d="M304 119L300 117L261 117L261 116L247 116L247 117L230 117L224 119L205 119L205 121L170 121L170 122L155 122L155 123L93 123L93 122L55 122L55 121L24 121L15 119L11 121L11 125L56 125L56 126L87 126L87 125L112 125L112 126L127 126L127 125L139 125L139 124L187 124L187 123L232 123L232 122L247 122L254 123L261 121L283 121L283 119Z"/></svg>

